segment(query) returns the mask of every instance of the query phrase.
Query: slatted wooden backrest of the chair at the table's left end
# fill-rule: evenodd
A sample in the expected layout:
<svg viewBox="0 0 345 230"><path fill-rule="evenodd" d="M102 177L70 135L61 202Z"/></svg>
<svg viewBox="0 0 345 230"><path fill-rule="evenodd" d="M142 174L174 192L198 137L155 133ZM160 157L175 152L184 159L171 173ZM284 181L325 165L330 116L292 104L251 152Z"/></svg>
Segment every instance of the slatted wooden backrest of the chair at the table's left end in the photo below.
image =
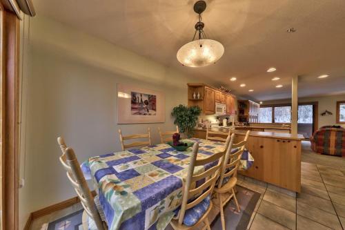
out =
<svg viewBox="0 0 345 230"><path fill-rule="evenodd" d="M83 176L79 162L72 148L68 148L62 137L57 138L57 142L62 151L60 162L67 171L67 178L74 187L81 204L86 213L95 221L97 229L104 230L103 221L97 211L95 201L92 197L88 184Z"/></svg>

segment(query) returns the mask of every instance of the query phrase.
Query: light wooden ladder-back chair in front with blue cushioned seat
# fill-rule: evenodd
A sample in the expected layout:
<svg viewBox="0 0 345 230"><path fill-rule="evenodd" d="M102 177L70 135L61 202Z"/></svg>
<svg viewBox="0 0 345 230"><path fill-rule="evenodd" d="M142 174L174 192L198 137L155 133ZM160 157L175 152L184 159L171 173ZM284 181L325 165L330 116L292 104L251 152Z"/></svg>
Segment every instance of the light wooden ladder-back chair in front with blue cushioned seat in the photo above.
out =
<svg viewBox="0 0 345 230"><path fill-rule="evenodd" d="M225 151L215 153L205 159L197 159L199 144L193 146L193 155L190 157L190 165L188 167L188 175L186 183L184 183L184 193L182 195L181 209L176 218L172 219L170 225L173 229L188 230L196 227L203 222L206 229L210 230L210 222L208 221L208 213L212 209L210 196L213 192L215 182L219 178L219 173L224 160ZM204 166L210 162L217 162L217 165L210 167L203 173L193 175L197 166ZM195 188L198 181L205 180ZM197 198L195 198L197 196Z"/></svg>

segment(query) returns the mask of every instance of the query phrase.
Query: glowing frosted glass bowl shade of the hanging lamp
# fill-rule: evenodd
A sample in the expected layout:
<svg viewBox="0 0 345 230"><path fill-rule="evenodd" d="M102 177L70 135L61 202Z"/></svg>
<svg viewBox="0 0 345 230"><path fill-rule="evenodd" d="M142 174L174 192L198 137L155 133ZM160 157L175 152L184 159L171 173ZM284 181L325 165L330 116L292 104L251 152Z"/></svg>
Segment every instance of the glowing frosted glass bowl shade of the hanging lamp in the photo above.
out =
<svg viewBox="0 0 345 230"><path fill-rule="evenodd" d="M201 67L215 63L223 54L224 46L218 41L199 39L179 48L177 60L184 66Z"/></svg>

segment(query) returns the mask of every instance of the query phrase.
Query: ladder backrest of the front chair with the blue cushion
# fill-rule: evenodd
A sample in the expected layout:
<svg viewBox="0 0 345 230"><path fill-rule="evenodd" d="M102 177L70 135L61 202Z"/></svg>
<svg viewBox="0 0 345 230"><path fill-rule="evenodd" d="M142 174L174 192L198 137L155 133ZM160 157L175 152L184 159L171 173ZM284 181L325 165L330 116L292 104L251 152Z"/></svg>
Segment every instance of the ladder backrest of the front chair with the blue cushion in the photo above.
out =
<svg viewBox="0 0 345 230"><path fill-rule="evenodd" d="M190 157L190 165L188 167L188 175L186 179L186 184L184 184L184 193L182 198L181 210L179 212L179 224L182 224L184 220L184 215L186 210L195 207L202 200L204 200L208 195L212 194L213 188L215 187L215 182L219 178L219 173L221 165L223 164L225 151L215 153L210 155L210 157L204 159L197 159L197 152L199 149L199 144L196 142L193 145L193 155ZM207 169L203 173L198 175L193 175L194 169L197 166L204 166L208 163L218 161L217 165ZM199 180L205 180L204 184L201 184L195 188L195 184ZM191 198L195 198L190 201Z"/></svg>

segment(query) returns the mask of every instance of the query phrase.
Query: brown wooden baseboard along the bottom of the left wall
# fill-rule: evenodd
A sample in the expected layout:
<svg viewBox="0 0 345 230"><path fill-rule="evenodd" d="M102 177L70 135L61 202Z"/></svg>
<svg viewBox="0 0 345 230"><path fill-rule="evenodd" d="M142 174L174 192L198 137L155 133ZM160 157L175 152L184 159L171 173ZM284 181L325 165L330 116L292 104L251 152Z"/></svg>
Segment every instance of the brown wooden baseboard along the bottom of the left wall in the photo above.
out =
<svg viewBox="0 0 345 230"><path fill-rule="evenodd" d="M91 193L94 197L97 195L97 193L95 191L91 191ZM33 211L32 213L30 213L29 218L26 221L24 230L30 230L31 224L35 219L41 218L44 215L48 215L50 213L53 213L55 211L59 211L61 209L66 209L66 208L72 206L73 204L77 204L79 202L80 202L80 199L76 196L74 198L64 200L63 202L59 202L57 204L52 204L46 208L39 209L37 211Z"/></svg>

